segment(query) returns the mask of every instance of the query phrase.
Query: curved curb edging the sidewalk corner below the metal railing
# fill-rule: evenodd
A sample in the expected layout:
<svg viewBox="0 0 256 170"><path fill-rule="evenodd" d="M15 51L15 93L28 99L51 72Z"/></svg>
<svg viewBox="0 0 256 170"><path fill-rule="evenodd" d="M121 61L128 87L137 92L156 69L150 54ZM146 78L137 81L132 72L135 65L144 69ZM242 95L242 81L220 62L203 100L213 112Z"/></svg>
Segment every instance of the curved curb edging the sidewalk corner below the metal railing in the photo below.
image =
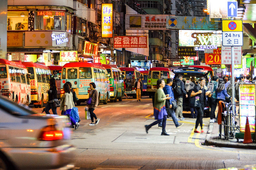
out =
<svg viewBox="0 0 256 170"><path fill-rule="evenodd" d="M209 131L206 135L204 145L206 146L218 146L218 147L226 147L226 148L242 148L242 149L256 149L256 144L254 143L231 143L230 141L227 141L225 139L219 139L218 135L215 135L213 138L211 138L213 130L213 123L211 122L209 124Z"/></svg>

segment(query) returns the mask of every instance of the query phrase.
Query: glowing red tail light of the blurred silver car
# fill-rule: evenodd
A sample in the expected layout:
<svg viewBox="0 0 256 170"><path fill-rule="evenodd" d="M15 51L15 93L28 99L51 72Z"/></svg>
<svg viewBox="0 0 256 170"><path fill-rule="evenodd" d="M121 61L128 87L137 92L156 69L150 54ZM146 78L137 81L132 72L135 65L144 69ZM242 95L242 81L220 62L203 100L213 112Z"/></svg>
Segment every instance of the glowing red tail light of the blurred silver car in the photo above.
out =
<svg viewBox="0 0 256 170"><path fill-rule="evenodd" d="M63 139L63 131L57 130L54 125L46 126L41 130L39 140L54 141Z"/></svg>

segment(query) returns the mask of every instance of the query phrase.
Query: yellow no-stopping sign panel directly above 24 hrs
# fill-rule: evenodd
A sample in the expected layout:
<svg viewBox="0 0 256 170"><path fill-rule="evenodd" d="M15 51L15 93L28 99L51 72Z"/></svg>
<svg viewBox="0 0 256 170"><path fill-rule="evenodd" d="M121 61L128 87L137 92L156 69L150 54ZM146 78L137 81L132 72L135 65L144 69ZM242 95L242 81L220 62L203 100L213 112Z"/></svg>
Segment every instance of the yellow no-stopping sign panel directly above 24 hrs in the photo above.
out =
<svg viewBox="0 0 256 170"><path fill-rule="evenodd" d="M243 31L243 20L222 20L222 31Z"/></svg>

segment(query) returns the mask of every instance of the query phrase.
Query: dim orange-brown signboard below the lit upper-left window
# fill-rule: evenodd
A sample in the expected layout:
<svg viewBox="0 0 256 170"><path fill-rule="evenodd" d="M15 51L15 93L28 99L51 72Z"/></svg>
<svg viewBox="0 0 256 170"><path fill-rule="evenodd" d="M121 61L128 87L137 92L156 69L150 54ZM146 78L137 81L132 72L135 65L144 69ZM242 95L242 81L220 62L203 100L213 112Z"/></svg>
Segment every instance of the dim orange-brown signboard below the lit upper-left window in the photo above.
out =
<svg viewBox="0 0 256 170"><path fill-rule="evenodd" d="M7 47L23 47L23 33L7 33Z"/></svg>

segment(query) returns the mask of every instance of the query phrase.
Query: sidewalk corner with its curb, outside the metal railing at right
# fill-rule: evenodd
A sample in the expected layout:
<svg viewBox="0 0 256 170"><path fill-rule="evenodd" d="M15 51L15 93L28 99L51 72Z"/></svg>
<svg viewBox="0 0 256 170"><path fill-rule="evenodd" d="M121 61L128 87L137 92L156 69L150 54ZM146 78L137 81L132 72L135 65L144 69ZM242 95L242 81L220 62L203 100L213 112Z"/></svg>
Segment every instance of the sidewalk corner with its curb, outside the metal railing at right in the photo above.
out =
<svg viewBox="0 0 256 170"><path fill-rule="evenodd" d="M226 140L224 137L219 138L219 125L218 123L210 123L209 131L206 135L204 144L207 146L218 146L218 147L228 147L228 148L242 148L242 149L256 149L256 143L244 144L243 139Z"/></svg>

